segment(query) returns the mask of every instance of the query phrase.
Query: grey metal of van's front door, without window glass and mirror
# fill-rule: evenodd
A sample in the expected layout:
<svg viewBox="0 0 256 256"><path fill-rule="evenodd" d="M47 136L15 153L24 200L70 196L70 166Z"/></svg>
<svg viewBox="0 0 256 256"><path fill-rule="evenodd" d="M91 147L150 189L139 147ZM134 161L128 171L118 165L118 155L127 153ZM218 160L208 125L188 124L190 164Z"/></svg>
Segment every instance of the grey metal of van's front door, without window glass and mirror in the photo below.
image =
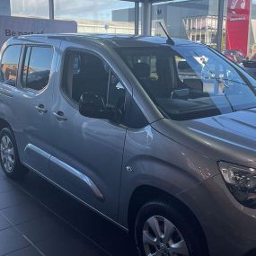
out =
<svg viewBox="0 0 256 256"><path fill-rule="evenodd" d="M60 48L62 56L68 49L86 50L103 59L109 59L102 50L102 46L92 45L90 42L87 47L86 45L83 47L80 43L63 41ZM111 61L109 63L116 71L117 67L113 66ZM59 70L63 68L63 58L59 59L57 68ZM126 81L123 83L127 84ZM61 81L57 84L54 93L55 102L50 111L51 113L62 111L66 120L58 121L54 115L51 115L50 119L54 158L50 157L49 166L53 181L117 221L122 154L127 128L107 120L82 116L78 111L78 106L66 99L60 87ZM67 136L72 134L75 136ZM97 154L98 159L95 161ZM66 165L62 163L66 163L81 175L77 176L74 172L69 172L70 167L66 168ZM88 183L84 184L84 179L81 177L93 181L98 192L95 193L95 188L92 190L92 186ZM100 200L99 193L102 194Z"/></svg>

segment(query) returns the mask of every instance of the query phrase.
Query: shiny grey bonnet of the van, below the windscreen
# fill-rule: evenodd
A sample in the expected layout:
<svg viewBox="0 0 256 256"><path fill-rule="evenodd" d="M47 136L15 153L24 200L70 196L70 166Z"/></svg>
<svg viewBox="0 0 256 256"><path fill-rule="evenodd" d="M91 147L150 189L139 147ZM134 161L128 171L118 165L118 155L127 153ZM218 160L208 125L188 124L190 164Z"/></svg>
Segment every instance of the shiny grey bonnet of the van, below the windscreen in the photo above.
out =
<svg viewBox="0 0 256 256"><path fill-rule="evenodd" d="M216 161L256 165L256 109L188 121L162 119L153 127Z"/></svg>

